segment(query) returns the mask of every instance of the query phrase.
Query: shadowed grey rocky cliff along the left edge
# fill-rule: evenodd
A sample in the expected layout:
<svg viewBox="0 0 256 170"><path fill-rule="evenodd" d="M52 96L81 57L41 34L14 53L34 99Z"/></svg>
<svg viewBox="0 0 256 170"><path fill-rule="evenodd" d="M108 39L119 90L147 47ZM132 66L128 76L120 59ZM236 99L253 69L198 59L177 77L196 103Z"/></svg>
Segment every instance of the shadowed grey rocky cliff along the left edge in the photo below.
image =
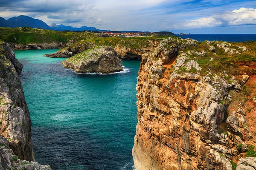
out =
<svg viewBox="0 0 256 170"><path fill-rule="evenodd" d="M19 78L22 68L11 48L0 41L0 169L19 166L20 160L35 161L31 120ZM30 164L27 161L23 164Z"/></svg>

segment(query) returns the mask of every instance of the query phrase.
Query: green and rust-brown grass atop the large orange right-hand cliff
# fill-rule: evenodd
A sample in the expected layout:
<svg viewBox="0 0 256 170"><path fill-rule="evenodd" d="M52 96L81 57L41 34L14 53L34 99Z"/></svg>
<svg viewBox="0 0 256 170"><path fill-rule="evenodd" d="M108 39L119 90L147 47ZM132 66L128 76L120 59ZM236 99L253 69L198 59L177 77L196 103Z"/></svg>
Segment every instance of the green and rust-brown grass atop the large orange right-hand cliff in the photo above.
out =
<svg viewBox="0 0 256 170"><path fill-rule="evenodd" d="M198 42L198 45L191 46L189 48L183 49L183 52L188 51L205 51L206 55L204 57L196 56L192 54L191 58L196 58L199 66L202 68L201 74L207 74L209 69L214 73L219 73L220 71L226 71L229 75L242 75L244 72L247 74L253 75L256 74L255 69L249 68L239 68L242 65L255 66L256 65L256 42L248 41L248 42L229 42L231 46L229 48L236 49L241 54L233 53L228 54L224 52L223 48L218 48L217 44L221 44L225 42L214 42L211 44L217 50L216 52L209 51L209 45L205 42ZM247 51L242 52L238 46L245 46ZM211 58L213 60L211 61ZM227 77L229 78L229 77Z"/></svg>

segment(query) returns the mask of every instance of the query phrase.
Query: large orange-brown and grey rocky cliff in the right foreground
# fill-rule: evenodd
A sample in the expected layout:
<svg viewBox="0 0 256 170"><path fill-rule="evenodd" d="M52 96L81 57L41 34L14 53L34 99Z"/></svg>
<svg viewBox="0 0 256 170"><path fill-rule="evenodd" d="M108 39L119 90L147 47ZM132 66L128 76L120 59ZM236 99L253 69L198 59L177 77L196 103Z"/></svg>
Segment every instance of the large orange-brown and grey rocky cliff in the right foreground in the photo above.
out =
<svg viewBox="0 0 256 170"><path fill-rule="evenodd" d="M248 109L253 99L241 102L239 95L255 70L238 64L253 63L248 52L227 42L169 38L143 54L133 148L137 170L234 170L239 160L239 167L249 164L244 157L255 152L248 151L255 144L255 106Z"/></svg>

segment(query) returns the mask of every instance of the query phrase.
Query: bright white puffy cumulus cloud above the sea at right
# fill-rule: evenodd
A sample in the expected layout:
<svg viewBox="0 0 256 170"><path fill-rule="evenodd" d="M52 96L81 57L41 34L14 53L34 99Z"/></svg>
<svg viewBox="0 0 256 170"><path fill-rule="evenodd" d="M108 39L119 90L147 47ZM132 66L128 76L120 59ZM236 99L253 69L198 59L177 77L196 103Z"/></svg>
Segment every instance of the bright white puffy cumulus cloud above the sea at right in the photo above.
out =
<svg viewBox="0 0 256 170"><path fill-rule="evenodd" d="M236 9L233 11L212 14L211 17L189 20L184 23L184 26L187 28L242 25L256 25L256 9L240 8L239 10Z"/></svg>

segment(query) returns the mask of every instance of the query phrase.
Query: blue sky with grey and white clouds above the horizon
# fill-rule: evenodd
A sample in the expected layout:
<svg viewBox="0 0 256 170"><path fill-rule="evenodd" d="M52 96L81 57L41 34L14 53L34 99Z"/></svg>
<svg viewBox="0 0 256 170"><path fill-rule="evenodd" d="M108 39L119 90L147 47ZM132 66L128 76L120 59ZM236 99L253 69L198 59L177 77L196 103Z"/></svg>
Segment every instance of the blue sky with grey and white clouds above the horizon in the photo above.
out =
<svg viewBox="0 0 256 170"><path fill-rule="evenodd" d="M256 34L256 0L0 0L0 17L19 15L113 31Z"/></svg>

